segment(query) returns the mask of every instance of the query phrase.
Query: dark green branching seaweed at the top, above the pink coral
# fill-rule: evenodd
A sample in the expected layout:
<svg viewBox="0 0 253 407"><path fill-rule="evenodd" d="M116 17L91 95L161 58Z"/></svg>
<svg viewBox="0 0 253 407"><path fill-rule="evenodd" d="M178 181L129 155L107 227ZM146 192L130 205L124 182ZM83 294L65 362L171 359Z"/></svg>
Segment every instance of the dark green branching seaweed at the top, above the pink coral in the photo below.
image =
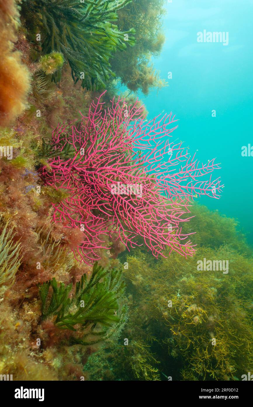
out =
<svg viewBox="0 0 253 407"><path fill-rule="evenodd" d="M129 1L28 0L24 16L31 15L43 31L43 53L61 52L74 81L81 79L83 88L96 89L113 75L109 63L112 53L125 50L127 43L134 44L132 30L120 32L112 24L117 20L115 11ZM55 81L60 77L60 70L53 74Z"/></svg>

